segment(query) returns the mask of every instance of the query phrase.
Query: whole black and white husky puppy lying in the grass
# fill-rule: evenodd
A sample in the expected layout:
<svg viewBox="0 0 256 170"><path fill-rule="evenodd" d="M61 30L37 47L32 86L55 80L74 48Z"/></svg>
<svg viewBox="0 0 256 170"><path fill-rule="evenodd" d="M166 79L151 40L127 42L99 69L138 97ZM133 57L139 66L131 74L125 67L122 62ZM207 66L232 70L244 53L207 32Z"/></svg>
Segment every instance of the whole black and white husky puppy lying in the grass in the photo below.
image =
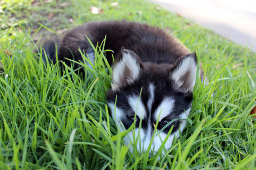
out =
<svg viewBox="0 0 256 170"><path fill-rule="evenodd" d="M125 144L134 142L135 133L135 137L140 136L139 152L149 147L156 152L173 126L164 145L169 149L174 136L179 137L179 130L182 132L185 128L191 110L197 74L196 53L159 28L128 21L89 22L62 38L44 42L43 48L54 63L55 44L59 60L69 66L71 62L67 59L83 61L79 48L94 63L95 52L86 36L96 46L105 35L105 49L113 51L106 52L113 69L112 89L107 93L112 118L121 131L133 123L136 127L135 132L124 137ZM74 68L79 65L75 64ZM172 120L175 121L170 123ZM155 128L162 131L154 134Z"/></svg>

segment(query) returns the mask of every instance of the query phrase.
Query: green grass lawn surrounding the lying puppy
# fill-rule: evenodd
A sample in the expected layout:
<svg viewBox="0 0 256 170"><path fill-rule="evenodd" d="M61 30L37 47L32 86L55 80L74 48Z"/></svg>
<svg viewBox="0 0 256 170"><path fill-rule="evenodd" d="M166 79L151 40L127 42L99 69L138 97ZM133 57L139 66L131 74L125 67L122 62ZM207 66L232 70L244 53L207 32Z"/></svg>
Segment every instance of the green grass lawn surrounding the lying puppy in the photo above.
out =
<svg viewBox="0 0 256 170"><path fill-rule="evenodd" d="M164 155L130 153L123 144L125 134L106 106L111 69L103 51L93 69L85 65L90 76L84 80L69 68L61 76L57 65L33 53L32 39L47 30L61 34L86 21L123 18L176 36L197 52L209 80L207 86L197 81L188 124ZM256 169L256 118L249 115L256 106L256 53L156 5L1 0L0 62L0 169Z"/></svg>

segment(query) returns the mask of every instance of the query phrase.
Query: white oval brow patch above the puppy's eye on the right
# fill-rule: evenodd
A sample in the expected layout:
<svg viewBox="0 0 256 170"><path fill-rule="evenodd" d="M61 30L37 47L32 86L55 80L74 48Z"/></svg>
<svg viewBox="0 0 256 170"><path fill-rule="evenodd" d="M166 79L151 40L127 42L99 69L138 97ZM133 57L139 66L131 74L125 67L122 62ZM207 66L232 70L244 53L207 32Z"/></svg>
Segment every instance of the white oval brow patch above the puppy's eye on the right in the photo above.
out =
<svg viewBox="0 0 256 170"><path fill-rule="evenodd" d="M172 111L174 107L175 100L172 97L165 98L158 106L156 112L155 112L155 119L159 122L168 116Z"/></svg>

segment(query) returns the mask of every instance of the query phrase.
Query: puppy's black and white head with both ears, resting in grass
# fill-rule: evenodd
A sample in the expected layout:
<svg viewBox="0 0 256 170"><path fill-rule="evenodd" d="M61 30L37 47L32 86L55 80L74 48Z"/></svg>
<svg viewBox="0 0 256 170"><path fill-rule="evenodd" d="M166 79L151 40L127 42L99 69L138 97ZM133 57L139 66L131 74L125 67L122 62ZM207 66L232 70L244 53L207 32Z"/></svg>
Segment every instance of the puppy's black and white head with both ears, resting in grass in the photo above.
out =
<svg viewBox="0 0 256 170"><path fill-rule="evenodd" d="M122 59L113 66L107 101L120 131L135 123L135 131L124 137L126 145L136 143L140 153L149 147L157 152L162 143L166 149L172 146L174 136L186 126L196 71L195 54L185 56L176 67L145 66L135 53L122 51Z"/></svg>

